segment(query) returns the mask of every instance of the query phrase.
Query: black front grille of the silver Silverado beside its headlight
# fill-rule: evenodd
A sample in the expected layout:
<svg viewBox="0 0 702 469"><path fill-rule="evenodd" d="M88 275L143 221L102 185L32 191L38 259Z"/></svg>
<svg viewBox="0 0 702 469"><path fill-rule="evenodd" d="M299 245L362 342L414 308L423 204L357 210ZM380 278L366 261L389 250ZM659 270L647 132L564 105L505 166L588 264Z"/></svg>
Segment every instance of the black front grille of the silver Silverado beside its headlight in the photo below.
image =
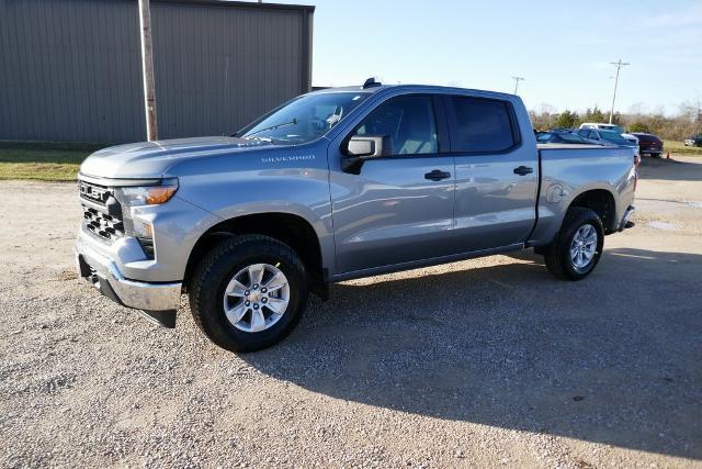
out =
<svg viewBox="0 0 702 469"><path fill-rule="evenodd" d="M124 236L122 208L112 197L112 189L86 181L79 181L83 226L104 241L114 241Z"/></svg>

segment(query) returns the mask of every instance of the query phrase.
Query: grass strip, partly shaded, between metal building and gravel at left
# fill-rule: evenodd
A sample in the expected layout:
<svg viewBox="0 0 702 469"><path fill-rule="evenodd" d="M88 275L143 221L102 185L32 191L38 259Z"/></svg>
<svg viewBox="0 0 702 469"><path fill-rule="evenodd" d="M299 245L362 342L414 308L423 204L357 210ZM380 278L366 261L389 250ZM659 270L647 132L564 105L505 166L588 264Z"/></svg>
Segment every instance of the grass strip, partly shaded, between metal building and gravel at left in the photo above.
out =
<svg viewBox="0 0 702 469"><path fill-rule="evenodd" d="M0 179L73 181L88 155L105 145L0 142Z"/></svg>

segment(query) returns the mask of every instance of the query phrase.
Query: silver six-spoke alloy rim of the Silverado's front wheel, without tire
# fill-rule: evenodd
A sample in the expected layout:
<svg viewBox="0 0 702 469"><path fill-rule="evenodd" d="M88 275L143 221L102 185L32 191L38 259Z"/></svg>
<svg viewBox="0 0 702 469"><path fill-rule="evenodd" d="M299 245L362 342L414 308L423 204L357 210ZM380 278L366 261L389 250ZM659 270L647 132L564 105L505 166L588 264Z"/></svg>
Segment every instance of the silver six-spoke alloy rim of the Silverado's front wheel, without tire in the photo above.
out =
<svg viewBox="0 0 702 469"><path fill-rule="evenodd" d="M285 273L270 264L253 264L239 270L224 291L224 312L239 331L257 333L278 323L290 303Z"/></svg>

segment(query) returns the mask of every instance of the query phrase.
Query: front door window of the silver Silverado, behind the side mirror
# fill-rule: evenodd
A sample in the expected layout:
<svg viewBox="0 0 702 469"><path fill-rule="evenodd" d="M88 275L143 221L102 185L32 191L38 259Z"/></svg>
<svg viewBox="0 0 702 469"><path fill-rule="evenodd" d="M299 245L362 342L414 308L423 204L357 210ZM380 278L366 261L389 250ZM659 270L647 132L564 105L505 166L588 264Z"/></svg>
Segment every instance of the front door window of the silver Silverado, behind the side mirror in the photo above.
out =
<svg viewBox="0 0 702 469"><path fill-rule="evenodd" d="M437 124L431 97L392 98L359 124L359 136L386 136L387 155L423 155L438 153Z"/></svg>

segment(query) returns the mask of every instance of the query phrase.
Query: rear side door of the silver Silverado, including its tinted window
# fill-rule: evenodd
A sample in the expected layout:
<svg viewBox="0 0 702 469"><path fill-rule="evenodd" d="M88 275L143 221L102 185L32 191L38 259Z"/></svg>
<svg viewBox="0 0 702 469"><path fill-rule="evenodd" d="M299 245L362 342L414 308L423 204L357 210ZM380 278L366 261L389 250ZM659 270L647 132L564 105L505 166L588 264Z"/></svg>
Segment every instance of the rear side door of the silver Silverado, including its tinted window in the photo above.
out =
<svg viewBox="0 0 702 469"><path fill-rule="evenodd" d="M524 242L536 217L539 153L522 144L512 104L465 96L443 102L456 167L454 249Z"/></svg>

